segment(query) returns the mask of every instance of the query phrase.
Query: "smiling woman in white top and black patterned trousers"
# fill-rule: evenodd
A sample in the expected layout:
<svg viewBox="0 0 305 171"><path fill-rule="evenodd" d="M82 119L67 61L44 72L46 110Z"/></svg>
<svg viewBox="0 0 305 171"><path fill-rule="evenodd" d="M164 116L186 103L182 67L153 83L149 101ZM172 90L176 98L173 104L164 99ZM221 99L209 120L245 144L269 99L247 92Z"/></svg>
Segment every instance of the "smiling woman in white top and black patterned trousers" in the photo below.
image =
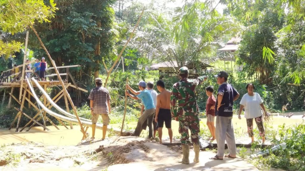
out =
<svg viewBox="0 0 305 171"><path fill-rule="evenodd" d="M238 113L238 118L241 119L240 113L242 113L242 109L245 108L245 118L247 120L248 126L248 134L251 137L251 143L254 141L253 135L253 118L255 119L258 131L260 132L260 136L262 137L262 143L265 142L265 130L263 124L263 113L264 110L265 116L267 115L265 106L263 104L263 100L257 92L253 92L255 89L252 83L247 84L246 89L248 93L242 96L240 101L240 108Z"/></svg>

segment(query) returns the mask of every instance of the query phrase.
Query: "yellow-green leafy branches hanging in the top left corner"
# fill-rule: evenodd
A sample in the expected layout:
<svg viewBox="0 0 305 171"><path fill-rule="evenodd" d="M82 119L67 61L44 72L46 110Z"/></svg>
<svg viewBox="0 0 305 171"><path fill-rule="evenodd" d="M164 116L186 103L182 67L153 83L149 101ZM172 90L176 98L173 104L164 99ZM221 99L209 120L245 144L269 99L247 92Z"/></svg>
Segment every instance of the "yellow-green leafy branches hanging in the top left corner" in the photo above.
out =
<svg viewBox="0 0 305 171"><path fill-rule="evenodd" d="M0 56L7 59L14 51L19 52L21 45L15 40L3 41L7 35L24 32L30 23L49 22L49 18L54 16L56 4L50 0L49 5L45 5L43 0L2 0L0 1ZM5 33L7 32L7 33Z"/></svg>

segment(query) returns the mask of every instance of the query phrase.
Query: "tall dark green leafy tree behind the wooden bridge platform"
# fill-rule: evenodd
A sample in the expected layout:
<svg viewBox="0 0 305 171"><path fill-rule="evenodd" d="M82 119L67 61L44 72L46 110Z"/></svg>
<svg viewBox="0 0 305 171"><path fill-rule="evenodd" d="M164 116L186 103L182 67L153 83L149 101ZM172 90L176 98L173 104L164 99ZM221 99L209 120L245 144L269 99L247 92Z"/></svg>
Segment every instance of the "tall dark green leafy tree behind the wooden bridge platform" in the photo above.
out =
<svg viewBox="0 0 305 171"><path fill-rule="evenodd" d="M36 27L56 65L81 65L72 72L86 87L92 84L91 76L99 76L102 60L107 62L115 56L114 2L57 0L56 16ZM36 40L30 42L36 55L43 57L45 52L36 46Z"/></svg>

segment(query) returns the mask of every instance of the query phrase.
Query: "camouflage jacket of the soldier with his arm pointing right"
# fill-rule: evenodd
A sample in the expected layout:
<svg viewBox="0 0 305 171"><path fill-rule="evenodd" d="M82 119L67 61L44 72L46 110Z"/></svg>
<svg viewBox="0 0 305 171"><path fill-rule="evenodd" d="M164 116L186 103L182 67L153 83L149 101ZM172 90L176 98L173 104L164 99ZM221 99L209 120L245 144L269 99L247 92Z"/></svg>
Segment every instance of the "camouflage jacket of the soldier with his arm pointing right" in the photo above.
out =
<svg viewBox="0 0 305 171"><path fill-rule="evenodd" d="M185 78L174 84L170 97L172 117L196 116L198 114L195 88L203 80L203 76L197 79Z"/></svg>

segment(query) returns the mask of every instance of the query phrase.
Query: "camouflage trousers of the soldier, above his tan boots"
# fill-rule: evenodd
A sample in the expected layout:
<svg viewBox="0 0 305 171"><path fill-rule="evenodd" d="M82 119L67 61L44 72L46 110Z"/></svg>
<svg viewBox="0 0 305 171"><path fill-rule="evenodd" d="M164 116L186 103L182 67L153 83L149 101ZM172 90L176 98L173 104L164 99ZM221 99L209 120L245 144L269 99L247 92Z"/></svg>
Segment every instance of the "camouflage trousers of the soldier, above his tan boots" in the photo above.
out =
<svg viewBox="0 0 305 171"><path fill-rule="evenodd" d="M191 131L191 139L194 144L199 143L199 118L198 116L179 117L179 133L181 134L182 145L189 145L189 133Z"/></svg>

